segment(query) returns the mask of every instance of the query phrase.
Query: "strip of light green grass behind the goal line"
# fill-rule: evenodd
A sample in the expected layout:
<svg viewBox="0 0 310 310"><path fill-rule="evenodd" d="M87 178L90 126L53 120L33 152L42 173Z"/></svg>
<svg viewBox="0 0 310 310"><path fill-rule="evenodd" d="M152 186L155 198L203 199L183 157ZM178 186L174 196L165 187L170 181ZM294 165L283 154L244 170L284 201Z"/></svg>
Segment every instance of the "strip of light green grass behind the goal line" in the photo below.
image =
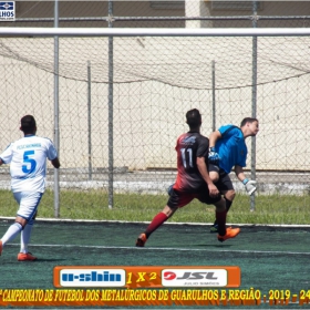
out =
<svg viewBox="0 0 310 310"><path fill-rule="evenodd" d="M0 214L16 216L18 208L11 192L0 190ZM40 218L53 218L53 192L46 190L39 207ZM166 195L115 194L114 207L107 208L107 194L101 190L62 190L60 215L65 219L151 221L167 203ZM231 224L308 225L310 196L270 195L257 196L256 209L250 211L250 199L237 195L228 214ZM213 223L215 207L192 202L175 213L169 221Z"/></svg>

